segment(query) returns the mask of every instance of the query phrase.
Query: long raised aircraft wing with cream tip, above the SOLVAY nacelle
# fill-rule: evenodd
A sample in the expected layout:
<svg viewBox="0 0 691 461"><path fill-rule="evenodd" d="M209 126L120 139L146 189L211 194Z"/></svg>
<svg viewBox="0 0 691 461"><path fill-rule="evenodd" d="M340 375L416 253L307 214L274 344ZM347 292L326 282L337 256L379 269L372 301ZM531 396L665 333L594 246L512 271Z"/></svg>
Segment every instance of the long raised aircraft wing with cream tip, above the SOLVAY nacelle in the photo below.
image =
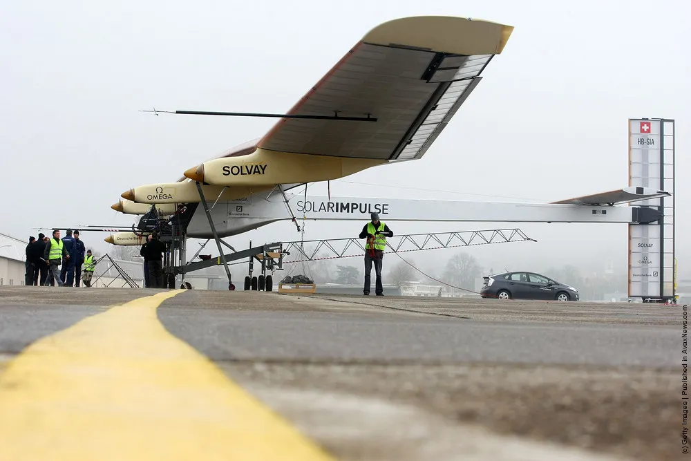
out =
<svg viewBox="0 0 691 461"><path fill-rule="evenodd" d="M410 160L430 144L480 82L513 28L460 17L408 17L377 26L288 114L376 117L377 122L281 119L261 149Z"/></svg>

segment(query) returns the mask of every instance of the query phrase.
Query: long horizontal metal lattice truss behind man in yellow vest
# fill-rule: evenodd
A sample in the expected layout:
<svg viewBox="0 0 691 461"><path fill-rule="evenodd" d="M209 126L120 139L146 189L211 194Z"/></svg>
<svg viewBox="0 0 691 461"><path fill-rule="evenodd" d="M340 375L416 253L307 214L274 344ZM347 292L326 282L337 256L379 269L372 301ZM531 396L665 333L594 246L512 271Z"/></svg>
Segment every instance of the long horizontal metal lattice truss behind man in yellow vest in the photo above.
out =
<svg viewBox="0 0 691 461"><path fill-rule="evenodd" d="M437 232L432 234L406 234L389 237L386 245L390 251L385 253L404 253L421 250L438 250L440 248L467 247L473 245L488 245L490 243L511 243L533 241L520 229L490 229L462 232ZM323 259L351 258L362 256L365 252L365 241L359 238L334 238L328 240L312 240L299 242L284 242L283 253L295 254L295 258L285 259L283 263L301 263L304 261L319 261ZM314 250L306 252L303 244L314 245ZM310 245L310 246L312 246ZM326 252L328 256L317 256Z"/></svg>

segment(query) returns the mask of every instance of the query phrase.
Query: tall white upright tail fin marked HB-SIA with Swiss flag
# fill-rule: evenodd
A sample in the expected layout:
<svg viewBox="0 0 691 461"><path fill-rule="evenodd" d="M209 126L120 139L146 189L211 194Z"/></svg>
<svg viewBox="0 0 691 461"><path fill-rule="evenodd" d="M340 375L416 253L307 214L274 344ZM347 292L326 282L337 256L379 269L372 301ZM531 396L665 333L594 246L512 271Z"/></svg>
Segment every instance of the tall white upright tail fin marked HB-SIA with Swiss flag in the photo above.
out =
<svg viewBox="0 0 691 461"><path fill-rule="evenodd" d="M674 258L674 120L629 119L629 186L653 187L672 196L636 205L650 207L663 218L629 225L629 297L644 302L673 299Z"/></svg>

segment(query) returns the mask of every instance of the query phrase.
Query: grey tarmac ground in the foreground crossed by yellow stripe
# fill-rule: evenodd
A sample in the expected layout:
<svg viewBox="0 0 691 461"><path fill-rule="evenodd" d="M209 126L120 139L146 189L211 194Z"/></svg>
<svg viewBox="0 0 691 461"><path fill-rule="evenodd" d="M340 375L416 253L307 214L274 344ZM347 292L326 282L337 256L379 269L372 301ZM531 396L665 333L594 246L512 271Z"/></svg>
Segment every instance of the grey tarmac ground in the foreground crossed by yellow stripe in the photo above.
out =
<svg viewBox="0 0 691 461"><path fill-rule="evenodd" d="M672 460L683 454L681 306L180 290L157 301L149 317L149 305L113 308L155 293L169 296L167 290L0 287L0 433L39 438L37 427L58 427L46 425L55 408L81 405L78 413L79 402L100 408L106 395L113 402L141 397L145 406L155 386L160 390L151 395L167 395L182 386L178 379L213 373L202 364L210 359L227 383L332 457L296 458ZM183 346L203 360L184 355ZM30 354L32 348L40 353ZM85 349L88 357L75 352ZM173 361L173 355L185 358ZM34 388L44 373L37 370L55 363L62 368L43 381L64 382ZM116 363L115 371L99 369L97 379L95 372L87 375L87 365ZM106 372L111 384L102 379ZM83 379L96 384L79 391ZM187 392L211 395L231 385L207 389L214 379L188 383ZM99 386L101 393L94 391ZM120 395L124 389L135 397ZM26 417L42 414L32 405L49 391L41 397L46 414ZM240 408L232 404L244 397L225 395L232 397L228 408ZM156 411L193 420L201 411L192 406L201 404L187 397ZM28 403L12 403L12 410L3 402ZM247 412L249 427L258 410L247 408L237 411ZM15 424L19 415L23 423ZM279 424L266 421L257 427ZM188 433L180 427L171 430ZM126 440L124 431L117 426L113 433ZM265 443L278 432L267 431ZM196 444L196 459L207 453L200 446L211 453L212 445ZM289 451L277 459L289 459Z"/></svg>

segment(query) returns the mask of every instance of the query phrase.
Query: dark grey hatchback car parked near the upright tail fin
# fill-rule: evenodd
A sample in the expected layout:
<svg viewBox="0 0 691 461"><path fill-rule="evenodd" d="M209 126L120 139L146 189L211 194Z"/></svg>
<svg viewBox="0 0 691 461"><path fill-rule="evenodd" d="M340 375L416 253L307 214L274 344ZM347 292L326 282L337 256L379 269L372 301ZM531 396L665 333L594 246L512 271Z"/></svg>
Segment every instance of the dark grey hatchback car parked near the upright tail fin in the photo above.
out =
<svg viewBox="0 0 691 461"><path fill-rule="evenodd" d="M492 299L578 301L578 290L535 272L504 272L484 277L480 296Z"/></svg>

